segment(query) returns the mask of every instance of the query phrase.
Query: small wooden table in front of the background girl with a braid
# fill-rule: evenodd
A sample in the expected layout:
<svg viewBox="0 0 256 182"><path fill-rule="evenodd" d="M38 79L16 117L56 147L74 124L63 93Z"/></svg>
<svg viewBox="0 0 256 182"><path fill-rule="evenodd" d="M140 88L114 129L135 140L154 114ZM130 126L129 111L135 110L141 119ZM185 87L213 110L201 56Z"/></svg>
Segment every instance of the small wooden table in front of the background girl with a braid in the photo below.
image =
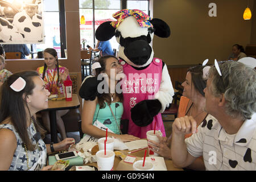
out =
<svg viewBox="0 0 256 182"><path fill-rule="evenodd" d="M60 97L63 97L63 95ZM63 100L48 100L49 119L51 126L51 141L57 143L57 128L56 128L56 110L76 109L80 107L80 102L77 94L72 94L72 101Z"/></svg>

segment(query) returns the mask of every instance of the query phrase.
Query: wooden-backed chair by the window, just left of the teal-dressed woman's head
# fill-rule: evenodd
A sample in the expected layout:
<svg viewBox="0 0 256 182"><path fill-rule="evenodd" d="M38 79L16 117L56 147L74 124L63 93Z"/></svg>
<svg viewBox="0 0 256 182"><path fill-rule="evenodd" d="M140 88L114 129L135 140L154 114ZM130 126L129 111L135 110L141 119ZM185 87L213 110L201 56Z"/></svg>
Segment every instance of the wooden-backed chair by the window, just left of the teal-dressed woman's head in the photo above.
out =
<svg viewBox="0 0 256 182"><path fill-rule="evenodd" d="M88 73L87 73L88 67L89 67L89 75L92 75L92 51L81 50L82 80L84 80L84 78L88 76Z"/></svg>

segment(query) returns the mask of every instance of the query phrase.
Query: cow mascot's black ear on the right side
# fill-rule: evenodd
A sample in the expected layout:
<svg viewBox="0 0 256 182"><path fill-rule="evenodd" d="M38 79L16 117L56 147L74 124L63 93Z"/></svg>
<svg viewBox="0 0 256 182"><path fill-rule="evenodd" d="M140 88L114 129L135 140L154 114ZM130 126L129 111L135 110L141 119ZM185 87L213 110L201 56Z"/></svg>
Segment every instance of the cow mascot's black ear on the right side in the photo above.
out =
<svg viewBox="0 0 256 182"><path fill-rule="evenodd" d="M156 36L160 38L168 38L171 35L170 27L162 19L153 18L150 23L154 26Z"/></svg>

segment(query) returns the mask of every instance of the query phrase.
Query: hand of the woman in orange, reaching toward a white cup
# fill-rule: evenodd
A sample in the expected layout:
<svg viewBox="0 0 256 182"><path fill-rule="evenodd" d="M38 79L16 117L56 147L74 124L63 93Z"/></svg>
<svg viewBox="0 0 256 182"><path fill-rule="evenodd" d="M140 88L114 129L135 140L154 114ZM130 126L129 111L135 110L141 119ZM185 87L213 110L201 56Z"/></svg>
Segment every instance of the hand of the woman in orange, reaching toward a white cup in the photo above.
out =
<svg viewBox="0 0 256 182"><path fill-rule="evenodd" d="M159 143L148 140L148 145L152 147L151 150L164 158L171 159L171 149L167 146L167 138L160 137L159 135L156 136L159 138Z"/></svg>

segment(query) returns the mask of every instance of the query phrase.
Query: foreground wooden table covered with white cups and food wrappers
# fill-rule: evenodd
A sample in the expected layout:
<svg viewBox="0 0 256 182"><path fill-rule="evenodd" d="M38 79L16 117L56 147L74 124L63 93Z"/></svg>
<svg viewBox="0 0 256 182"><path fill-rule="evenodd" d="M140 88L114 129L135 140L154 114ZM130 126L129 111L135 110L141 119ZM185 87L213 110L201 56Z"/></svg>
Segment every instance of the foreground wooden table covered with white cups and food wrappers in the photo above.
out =
<svg viewBox="0 0 256 182"><path fill-rule="evenodd" d="M125 155L128 154L128 150L120 150L120 152L122 152ZM134 152L134 153L131 153L131 154L128 154L128 155L137 156L137 157L143 158L144 157L144 152L145 152L145 150L141 150L141 151ZM147 150L146 157L147 156L148 156L148 150ZM117 171L117 166L118 166L118 164L119 164L119 162L121 160L122 160L121 158L115 156L113 171ZM171 159L164 159L164 162L166 163L167 171L184 171L182 168L174 167L174 164L172 164L172 160ZM87 164L84 164L84 165L98 167L97 166L97 162L87 163Z"/></svg>

